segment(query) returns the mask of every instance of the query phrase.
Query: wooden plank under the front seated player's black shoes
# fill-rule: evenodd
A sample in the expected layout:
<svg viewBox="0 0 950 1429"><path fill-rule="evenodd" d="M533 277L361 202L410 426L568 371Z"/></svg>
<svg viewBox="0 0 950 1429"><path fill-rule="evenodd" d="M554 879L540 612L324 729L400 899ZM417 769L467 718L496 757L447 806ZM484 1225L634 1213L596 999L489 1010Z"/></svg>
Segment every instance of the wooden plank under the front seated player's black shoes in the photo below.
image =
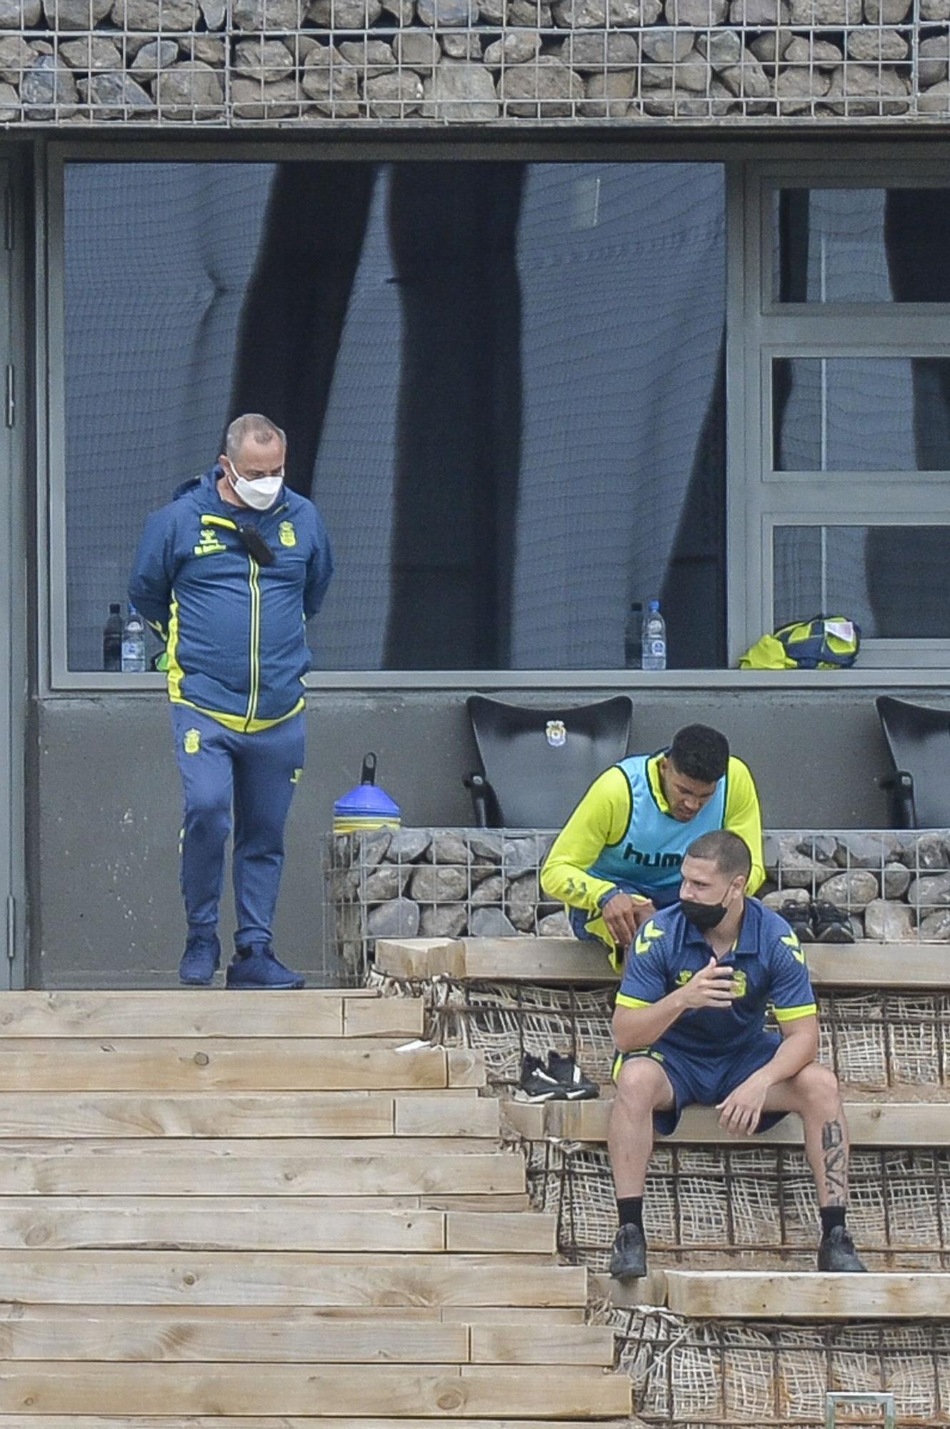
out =
<svg viewBox="0 0 950 1429"><path fill-rule="evenodd" d="M667 1270L666 1286L673 1313L703 1319L944 1319L950 1305L950 1275L934 1270Z"/></svg>

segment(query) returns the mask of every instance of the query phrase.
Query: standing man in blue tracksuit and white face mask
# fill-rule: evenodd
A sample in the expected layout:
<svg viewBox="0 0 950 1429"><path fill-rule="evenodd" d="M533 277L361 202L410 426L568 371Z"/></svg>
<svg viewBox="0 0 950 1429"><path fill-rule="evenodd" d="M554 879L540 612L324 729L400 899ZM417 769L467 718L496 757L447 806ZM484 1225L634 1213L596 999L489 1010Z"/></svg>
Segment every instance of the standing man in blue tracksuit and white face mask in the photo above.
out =
<svg viewBox="0 0 950 1429"><path fill-rule="evenodd" d="M179 976L220 966L224 846L234 826L237 912L229 987L303 987L276 957L271 923L284 823L304 763L306 624L333 554L311 502L284 486L286 439L237 417L224 453L146 522L129 599L166 640L176 756L184 786Z"/></svg>

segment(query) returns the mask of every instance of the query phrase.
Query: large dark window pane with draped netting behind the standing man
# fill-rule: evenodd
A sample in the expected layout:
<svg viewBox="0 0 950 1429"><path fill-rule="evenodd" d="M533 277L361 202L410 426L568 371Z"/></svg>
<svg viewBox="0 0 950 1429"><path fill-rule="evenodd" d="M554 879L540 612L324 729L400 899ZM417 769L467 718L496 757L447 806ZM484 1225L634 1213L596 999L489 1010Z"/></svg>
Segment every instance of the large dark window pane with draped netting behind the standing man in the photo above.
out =
<svg viewBox="0 0 950 1429"><path fill-rule="evenodd" d="M260 410L330 527L323 669L724 663L717 164L74 164L69 659Z"/></svg>

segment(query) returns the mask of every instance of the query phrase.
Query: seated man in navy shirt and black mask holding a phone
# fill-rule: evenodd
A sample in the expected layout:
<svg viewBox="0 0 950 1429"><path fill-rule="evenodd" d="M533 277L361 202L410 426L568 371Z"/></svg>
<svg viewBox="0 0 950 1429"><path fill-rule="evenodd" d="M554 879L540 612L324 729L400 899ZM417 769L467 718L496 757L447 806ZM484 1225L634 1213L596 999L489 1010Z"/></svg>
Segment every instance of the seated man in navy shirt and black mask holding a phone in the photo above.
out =
<svg viewBox="0 0 950 1429"><path fill-rule="evenodd" d="M686 852L680 902L641 925L627 955L613 1035L617 1093L607 1145L620 1229L610 1273L646 1275L643 1189L654 1129L690 1103L734 1136L796 1112L821 1213L820 1270L863 1270L844 1225L849 1142L837 1077L816 1060L819 1019L799 939L746 897L751 859L726 829ZM771 1009L779 1030L766 1029Z"/></svg>

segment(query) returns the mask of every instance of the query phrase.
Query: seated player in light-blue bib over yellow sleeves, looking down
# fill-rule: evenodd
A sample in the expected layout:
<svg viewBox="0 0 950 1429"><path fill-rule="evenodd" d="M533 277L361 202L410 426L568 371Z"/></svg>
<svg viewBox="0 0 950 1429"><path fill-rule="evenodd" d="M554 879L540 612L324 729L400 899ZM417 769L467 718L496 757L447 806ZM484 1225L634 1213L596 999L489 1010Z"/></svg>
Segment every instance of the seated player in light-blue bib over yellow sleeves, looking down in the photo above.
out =
<svg viewBox="0 0 950 1429"><path fill-rule="evenodd" d="M637 927L680 896L686 850L713 829L746 840L754 893L766 876L756 785L724 735L687 725L670 749L633 755L593 782L554 840L541 887L620 972Z"/></svg>

